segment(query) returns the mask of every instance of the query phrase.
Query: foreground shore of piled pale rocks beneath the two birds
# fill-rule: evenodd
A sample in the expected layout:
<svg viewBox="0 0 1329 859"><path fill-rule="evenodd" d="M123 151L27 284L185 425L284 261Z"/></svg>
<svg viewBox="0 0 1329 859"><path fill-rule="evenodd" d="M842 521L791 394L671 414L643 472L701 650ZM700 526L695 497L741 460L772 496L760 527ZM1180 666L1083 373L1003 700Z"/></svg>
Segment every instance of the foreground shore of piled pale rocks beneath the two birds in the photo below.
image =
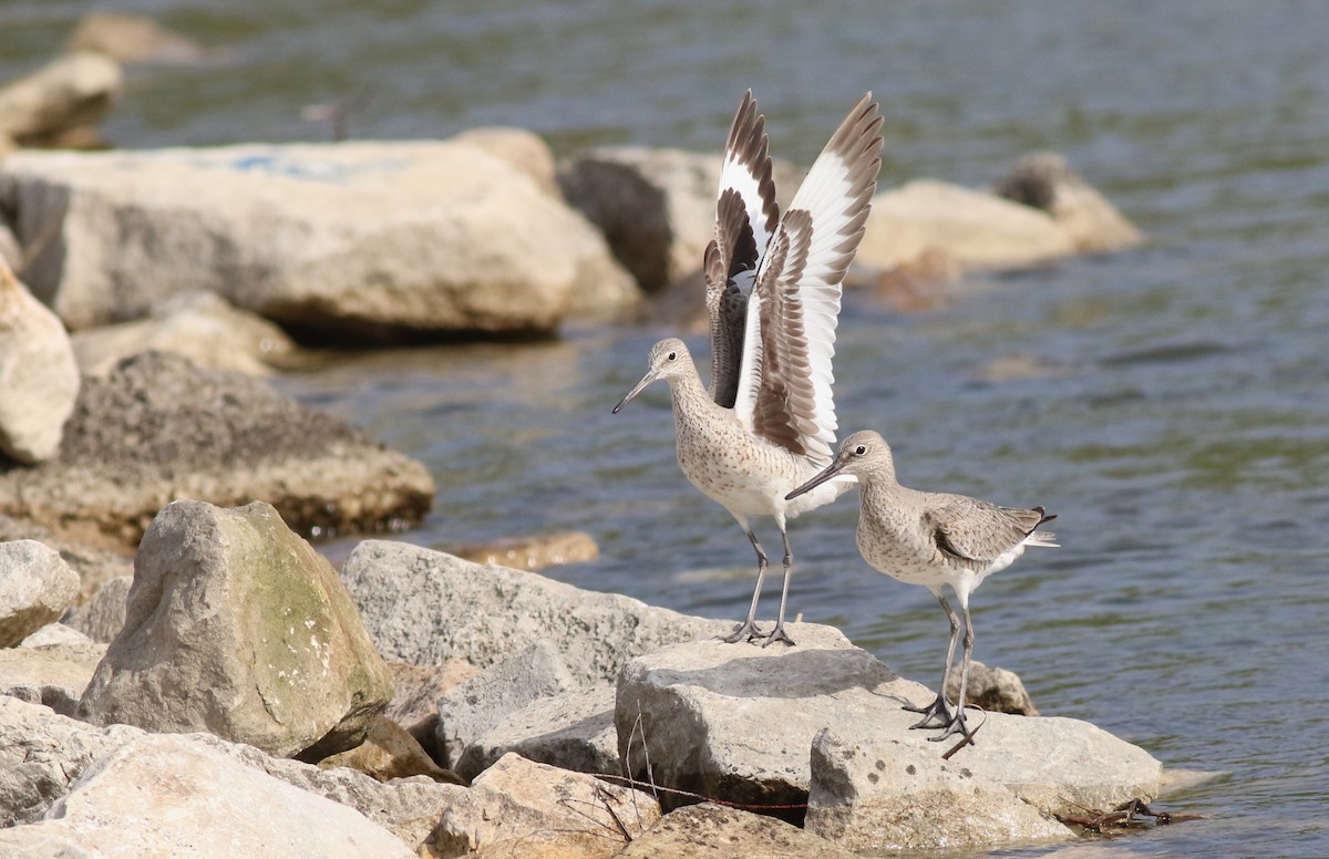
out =
<svg viewBox="0 0 1329 859"><path fill-rule="evenodd" d="M932 692L831 627L730 645L400 542L338 574L262 502L167 505L92 636L77 592L0 544L5 855L880 855L1069 840L1163 779L1069 718L948 755L901 709Z"/></svg>

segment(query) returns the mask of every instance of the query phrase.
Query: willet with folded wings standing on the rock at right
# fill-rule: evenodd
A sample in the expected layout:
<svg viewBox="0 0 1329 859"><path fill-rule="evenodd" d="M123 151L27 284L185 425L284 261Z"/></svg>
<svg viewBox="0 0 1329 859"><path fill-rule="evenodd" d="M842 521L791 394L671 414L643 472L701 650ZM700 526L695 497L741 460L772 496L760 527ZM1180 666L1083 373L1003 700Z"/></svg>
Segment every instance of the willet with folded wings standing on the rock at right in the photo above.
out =
<svg viewBox="0 0 1329 859"><path fill-rule="evenodd" d="M937 700L926 708L905 708L922 713L914 728L945 728L932 740L952 734L970 736L965 725L965 686L974 652L974 627L969 619L969 593L998 570L1005 570L1025 554L1026 546L1057 546L1054 536L1037 531L1055 519L1042 507L1018 510L998 507L968 495L921 493L901 486L886 439L870 430L849 435L824 471L788 494L799 498L816 491L836 475L859 478L859 552L873 568L906 584L932 591L950 620L950 647L946 670L941 676ZM960 597L965 612L965 659L960 672L960 700L952 713L946 702L946 681L956 659L960 619L942 595L941 586ZM936 721L933 721L936 720Z"/></svg>

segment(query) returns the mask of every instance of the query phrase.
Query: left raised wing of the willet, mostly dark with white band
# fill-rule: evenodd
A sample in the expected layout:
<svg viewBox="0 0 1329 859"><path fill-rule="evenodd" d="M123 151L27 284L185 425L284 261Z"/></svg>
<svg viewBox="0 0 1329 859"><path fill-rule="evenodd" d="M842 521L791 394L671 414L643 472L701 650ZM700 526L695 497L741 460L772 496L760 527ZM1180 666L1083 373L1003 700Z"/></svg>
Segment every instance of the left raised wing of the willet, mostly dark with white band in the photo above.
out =
<svg viewBox="0 0 1329 859"><path fill-rule="evenodd" d="M743 356L747 296L779 222L766 117L752 90L743 96L724 145L715 238L706 248L706 308L711 320L711 396L732 408Z"/></svg>

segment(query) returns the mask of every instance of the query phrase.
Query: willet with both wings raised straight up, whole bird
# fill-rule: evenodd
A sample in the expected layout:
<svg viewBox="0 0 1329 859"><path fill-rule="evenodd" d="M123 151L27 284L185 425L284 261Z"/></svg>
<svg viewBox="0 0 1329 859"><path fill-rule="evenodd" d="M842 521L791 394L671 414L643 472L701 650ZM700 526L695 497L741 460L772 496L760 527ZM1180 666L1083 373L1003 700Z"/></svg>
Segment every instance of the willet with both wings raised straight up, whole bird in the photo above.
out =
<svg viewBox="0 0 1329 859"><path fill-rule="evenodd" d="M831 397L835 329L844 273L863 239L881 169L881 117L865 94L779 218L766 118L751 90L743 97L724 151L715 238L706 248L706 305L711 319L711 394L682 340L651 348L646 376L614 406L658 378L674 405L678 463L702 493L747 534L758 558L747 620L726 641L762 637L756 605L767 556L752 516L772 516L784 542L784 588L775 628L763 644L793 640L784 631L793 554L787 519L837 498L849 481L784 498L832 458Z"/></svg>

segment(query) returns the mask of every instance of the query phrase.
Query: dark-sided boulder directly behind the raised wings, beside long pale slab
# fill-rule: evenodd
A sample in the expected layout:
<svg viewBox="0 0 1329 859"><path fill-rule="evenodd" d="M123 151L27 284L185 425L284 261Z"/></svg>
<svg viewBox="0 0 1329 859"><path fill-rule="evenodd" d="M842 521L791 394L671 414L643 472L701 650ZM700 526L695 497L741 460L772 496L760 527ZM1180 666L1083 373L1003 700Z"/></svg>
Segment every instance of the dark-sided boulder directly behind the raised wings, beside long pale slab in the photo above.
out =
<svg viewBox="0 0 1329 859"><path fill-rule="evenodd" d="M603 231L638 285L658 292L702 267L723 163L720 154L676 149L594 149L560 166L558 186ZM799 171L783 161L773 170L784 202Z"/></svg>

